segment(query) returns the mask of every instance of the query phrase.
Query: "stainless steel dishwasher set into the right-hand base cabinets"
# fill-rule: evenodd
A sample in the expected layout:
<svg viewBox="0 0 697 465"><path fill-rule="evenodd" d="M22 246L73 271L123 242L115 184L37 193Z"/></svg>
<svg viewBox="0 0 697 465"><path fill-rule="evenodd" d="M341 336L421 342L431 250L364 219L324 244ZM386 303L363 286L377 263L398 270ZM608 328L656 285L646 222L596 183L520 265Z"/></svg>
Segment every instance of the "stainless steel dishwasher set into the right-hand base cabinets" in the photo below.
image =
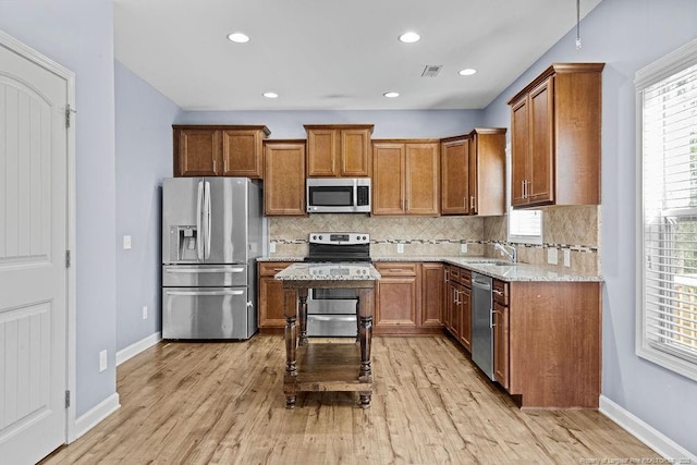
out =
<svg viewBox="0 0 697 465"><path fill-rule="evenodd" d="M492 279L472 273L472 360L493 380Z"/></svg>

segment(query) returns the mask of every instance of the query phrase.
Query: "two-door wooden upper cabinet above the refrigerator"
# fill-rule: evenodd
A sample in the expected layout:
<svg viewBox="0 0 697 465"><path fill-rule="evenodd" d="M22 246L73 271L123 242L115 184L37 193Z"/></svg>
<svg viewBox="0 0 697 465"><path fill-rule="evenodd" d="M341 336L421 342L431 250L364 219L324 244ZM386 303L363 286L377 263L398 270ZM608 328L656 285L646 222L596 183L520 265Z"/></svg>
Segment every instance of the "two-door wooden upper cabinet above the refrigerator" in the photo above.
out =
<svg viewBox="0 0 697 465"><path fill-rule="evenodd" d="M264 175L266 126L173 125L174 176Z"/></svg>

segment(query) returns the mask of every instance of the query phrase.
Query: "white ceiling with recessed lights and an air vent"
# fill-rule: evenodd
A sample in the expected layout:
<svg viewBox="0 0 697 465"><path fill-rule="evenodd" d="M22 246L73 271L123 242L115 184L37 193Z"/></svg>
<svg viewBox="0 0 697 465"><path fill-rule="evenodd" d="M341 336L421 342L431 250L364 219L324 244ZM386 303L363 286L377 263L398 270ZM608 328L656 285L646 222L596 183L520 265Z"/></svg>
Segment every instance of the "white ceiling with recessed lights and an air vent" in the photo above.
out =
<svg viewBox="0 0 697 465"><path fill-rule="evenodd" d="M117 60L185 110L480 109L575 26L575 0L114 0Z"/></svg>

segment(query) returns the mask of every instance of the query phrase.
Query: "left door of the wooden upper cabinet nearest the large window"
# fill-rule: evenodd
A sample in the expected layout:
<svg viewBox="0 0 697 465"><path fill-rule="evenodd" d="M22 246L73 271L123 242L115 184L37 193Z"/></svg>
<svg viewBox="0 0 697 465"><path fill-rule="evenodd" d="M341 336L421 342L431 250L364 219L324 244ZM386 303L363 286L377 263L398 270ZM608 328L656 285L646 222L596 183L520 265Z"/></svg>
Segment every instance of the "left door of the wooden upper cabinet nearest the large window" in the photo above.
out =
<svg viewBox="0 0 697 465"><path fill-rule="evenodd" d="M523 97L511 107L511 205L527 204L525 182L528 158L528 101Z"/></svg>

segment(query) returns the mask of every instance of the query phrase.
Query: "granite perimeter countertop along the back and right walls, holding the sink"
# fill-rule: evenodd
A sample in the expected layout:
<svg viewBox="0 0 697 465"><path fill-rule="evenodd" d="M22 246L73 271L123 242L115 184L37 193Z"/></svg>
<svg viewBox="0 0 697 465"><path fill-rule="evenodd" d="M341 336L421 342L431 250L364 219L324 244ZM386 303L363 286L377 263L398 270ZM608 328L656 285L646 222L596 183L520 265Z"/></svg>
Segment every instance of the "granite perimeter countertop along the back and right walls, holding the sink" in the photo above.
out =
<svg viewBox="0 0 697 465"><path fill-rule="evenodd" d="M260 257L258 261L303 261L305 257ZM558 267L542 267L528 264L497 265L503 260L491 257L427 257L427 256L386 256L372 257L374 262L380 261L440 261L467 268L478 273L487 274L501 281L560 281L560 282L602 282L602 276L584 273L573 270L563 270ZM303 264L318 266L320 264ZM323 265L326 266L326 264ZM360 265L353 265L360 266ZM365 265L364 265L365 266ZM291 268L291 267L289 267ZM286 268L288 270L288 268ZM375 268L374 268L375 270ZM284 271L282 271L284 272ZM281 272L281 273L282 273ZM297 272L297 271L296 271ZM377 271L375 271L377 273ZM280 273L279 273L280 274ZM278 274L277 274L278 276ZM305 274L305 279L307 274ZM304 278L284 278L303 280ZM310 278L315 279L315 278ZM327 278L327 279L355 279L355 278ZM379 279L379 274L378 278Z"/></svg>

